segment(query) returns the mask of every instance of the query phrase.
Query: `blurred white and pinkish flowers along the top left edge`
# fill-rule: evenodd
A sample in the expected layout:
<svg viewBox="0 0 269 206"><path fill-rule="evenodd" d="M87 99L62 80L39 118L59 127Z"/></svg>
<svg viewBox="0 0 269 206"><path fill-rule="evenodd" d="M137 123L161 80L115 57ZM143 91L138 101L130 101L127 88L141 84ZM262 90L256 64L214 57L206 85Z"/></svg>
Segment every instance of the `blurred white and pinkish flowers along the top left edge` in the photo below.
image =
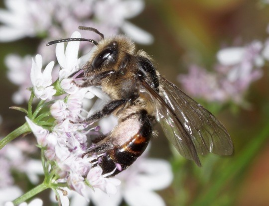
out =
<svg viewBox="0 0 269 206"><path fill-rule="evenodd" d="M128 35L135 30L141 33L141 29L134 29L134 26L133 29L124 27L128 22L126 19L143 10L143 0L4 0L4 3L6 9L0 9L0 41L40 34L61 38L74 31L78 24L104 28L107 35L118 33L121 28ZM152 42L153 37L147 32L144 34L146 38L140 35L141 39L136 37L134 40L146 44ZM45 52L44 47L40 47L39 52L45 55L42 51Z"/></svg>

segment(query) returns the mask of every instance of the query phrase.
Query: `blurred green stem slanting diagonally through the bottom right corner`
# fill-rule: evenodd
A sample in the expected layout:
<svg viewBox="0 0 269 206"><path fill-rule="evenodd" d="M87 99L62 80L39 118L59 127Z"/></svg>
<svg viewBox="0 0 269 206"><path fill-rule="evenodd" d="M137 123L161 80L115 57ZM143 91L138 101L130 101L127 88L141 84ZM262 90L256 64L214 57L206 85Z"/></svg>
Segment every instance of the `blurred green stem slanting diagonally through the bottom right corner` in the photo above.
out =
<svg viewBox="0 0 269 206"><path fill-rule="evenodd" d="M192 206L211 205L229 179L232 179L235 175L246 169L249 162L259 152L264 142L268 139L268 136L269 126L266 125L264 130L262 130L262 132L257 135L257 137L254 138L241 152L240 156L235 158L235 161L231 162L229 167L227 167L223 173L220 173L218 178L215 180L214 185L212 185L212 187L210 187L205 193L202 193Z"/></svg>

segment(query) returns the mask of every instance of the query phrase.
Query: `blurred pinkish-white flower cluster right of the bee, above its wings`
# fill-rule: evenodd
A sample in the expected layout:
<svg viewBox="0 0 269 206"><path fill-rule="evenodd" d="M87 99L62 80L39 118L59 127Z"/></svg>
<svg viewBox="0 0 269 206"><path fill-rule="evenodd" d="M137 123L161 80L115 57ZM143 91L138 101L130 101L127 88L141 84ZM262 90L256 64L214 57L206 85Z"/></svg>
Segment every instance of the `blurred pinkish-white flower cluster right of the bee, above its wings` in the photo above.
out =
<svg viewBox="0 0 269 206"><path fill-rule="evenodd" d="M178 80L191 96L209 102L244 104L250 84L262 77L262 67L269 61L269 40L253 41L245 47L231 47L217 53L219 63L213 72L193 65Z"/></svg>

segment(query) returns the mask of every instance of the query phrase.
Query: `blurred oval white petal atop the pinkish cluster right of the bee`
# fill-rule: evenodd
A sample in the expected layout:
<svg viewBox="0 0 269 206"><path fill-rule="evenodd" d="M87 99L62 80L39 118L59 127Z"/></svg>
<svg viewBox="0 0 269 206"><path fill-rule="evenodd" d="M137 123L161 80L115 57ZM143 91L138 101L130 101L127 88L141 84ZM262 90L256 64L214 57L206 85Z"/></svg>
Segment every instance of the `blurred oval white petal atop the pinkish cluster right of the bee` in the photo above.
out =
<svg viewBox="0 0 269 206"><path fill-rule="evenodd" d="M217 58L222 65L230 66L240 63L244 54L244 47L230 47L220 50L217 53Z"/></svg>

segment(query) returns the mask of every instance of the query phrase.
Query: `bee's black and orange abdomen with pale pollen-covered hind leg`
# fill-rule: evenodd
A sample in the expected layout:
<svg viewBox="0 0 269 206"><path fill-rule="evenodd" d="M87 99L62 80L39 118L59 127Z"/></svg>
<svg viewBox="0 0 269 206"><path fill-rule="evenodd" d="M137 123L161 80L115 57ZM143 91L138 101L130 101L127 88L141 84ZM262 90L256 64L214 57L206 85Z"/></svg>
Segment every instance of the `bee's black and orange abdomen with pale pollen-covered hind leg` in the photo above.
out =
<svg viewBox="0 0 269 206"><path fill-rule="evenodd" d="M94 166L103 169L103 175L112 177L125 170L139 157L152 136L151 118L141 109L124 118L102 141L87 154L95 156Z"/></svg>

